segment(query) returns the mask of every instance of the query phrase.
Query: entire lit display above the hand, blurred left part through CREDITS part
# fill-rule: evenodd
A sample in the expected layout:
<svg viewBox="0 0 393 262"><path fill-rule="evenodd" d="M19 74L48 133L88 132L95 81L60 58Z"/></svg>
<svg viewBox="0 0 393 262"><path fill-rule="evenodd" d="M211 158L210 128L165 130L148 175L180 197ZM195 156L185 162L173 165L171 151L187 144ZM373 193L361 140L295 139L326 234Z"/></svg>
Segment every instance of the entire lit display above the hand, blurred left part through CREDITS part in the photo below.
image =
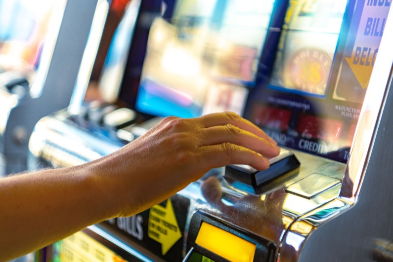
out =
<svg viewBox="0 0 393 262"><path fill-rule="evenodd" d="M175 1L170 19L152 23L135 108L180 117L233 111L280 146L346 163L390 7Z"/></svg>

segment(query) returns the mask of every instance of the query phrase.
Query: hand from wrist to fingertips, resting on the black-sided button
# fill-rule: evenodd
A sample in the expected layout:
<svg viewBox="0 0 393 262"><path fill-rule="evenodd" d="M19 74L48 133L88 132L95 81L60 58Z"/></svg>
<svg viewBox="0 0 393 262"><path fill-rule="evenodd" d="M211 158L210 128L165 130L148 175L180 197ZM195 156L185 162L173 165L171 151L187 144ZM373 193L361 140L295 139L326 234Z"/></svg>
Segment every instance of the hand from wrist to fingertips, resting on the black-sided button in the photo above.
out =
<svg viewBox="0 0 393 262"><path fill-rule="evenodd" d="M167 117L145 135L89 163L120 199L119 216L169 198L212 168L248 164L263 170L279 148L260 128L232 112L198 118Z"/></svg>

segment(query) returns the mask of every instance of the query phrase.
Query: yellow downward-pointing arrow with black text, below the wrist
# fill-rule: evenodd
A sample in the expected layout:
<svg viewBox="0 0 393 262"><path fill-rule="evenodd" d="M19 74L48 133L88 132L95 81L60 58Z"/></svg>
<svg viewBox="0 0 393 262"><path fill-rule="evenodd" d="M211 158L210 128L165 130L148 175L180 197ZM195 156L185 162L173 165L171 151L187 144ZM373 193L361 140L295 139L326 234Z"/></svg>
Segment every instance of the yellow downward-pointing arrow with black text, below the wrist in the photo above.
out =
<svg viewBox="0 0 393 262"><path fill-rule="evenodd" d="M167 200L167 206L155 205L150 208L148 236L161 243L163 256L180 239L181 233L175 217L171 198Z"/></svg>

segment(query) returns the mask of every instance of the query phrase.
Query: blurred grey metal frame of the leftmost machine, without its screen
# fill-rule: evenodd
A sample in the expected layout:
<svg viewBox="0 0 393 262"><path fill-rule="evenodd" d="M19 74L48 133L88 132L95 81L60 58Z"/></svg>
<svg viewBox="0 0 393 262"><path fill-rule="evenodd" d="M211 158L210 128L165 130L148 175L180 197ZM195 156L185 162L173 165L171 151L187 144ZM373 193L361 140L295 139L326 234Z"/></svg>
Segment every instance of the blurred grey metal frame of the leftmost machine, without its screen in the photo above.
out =
<svg viewBox="0 0 393 262"><path fill-rule="evenodd" d="M17 74L1 87L1 176L27 169L28 141L34 125L43 116L70 104L77 76L81 75L84 51L100 39L99 34L91 34L96 30L92 21L105 19L105 3L58 1L34 79L29 83ZM23 92L15 91L22 87Z"/></svg>

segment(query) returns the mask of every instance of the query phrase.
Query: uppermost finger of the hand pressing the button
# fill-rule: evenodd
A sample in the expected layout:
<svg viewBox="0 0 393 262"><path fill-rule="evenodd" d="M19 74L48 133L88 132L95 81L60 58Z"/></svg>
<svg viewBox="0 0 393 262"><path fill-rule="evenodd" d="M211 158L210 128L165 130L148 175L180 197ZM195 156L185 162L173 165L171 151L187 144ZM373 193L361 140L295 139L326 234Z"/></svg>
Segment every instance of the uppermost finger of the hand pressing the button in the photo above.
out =
<svg viewBox="0 0 393 262"><path fill-rule="evenodd" d="M271 137L269 137L268 135L266 135L266 133L263 132L261 128L253 124L251 121L241 117L237 113L234 112L211 113L201 116L200 118L202 121L202 125L205 128L209 128L217 125L232 124L269 141L273 145L277 145L277 142Z"/></svg>

